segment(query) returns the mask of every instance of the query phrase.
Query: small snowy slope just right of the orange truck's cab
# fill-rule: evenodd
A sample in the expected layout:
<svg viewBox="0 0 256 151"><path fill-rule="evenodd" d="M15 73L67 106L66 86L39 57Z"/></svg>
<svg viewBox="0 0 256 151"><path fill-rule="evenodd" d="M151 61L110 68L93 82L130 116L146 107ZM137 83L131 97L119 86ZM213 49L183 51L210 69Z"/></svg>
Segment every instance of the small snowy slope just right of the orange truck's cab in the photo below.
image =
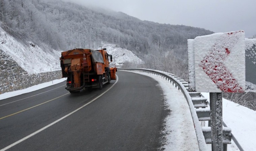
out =
<svg viewBox="0 0 256 151"><path fill-rule="evenodd" d="M116 45L111 44L106 44L103 48L106 48L107 53L111 54L113 57L113 62L111 62L110 65L123 65L125 61L129 61L133 64L141 64L142 62L142 60L130 50L116 47Z"/></svg>

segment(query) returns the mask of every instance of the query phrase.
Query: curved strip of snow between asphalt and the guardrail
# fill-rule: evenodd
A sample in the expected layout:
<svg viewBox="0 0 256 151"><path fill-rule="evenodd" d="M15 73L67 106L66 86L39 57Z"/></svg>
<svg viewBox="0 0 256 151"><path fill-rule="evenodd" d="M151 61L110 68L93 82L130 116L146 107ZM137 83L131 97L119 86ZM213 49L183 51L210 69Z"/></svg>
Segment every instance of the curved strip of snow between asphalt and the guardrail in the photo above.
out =
<svg viewBox="0 0 256 151"><path fill-rule="evenodd" d="M167 81L148 73L134 72L155 79L163 90L166 106L171 110L166 117L165 150L198 151L198 143L188 103L181 92Z"/></svg>

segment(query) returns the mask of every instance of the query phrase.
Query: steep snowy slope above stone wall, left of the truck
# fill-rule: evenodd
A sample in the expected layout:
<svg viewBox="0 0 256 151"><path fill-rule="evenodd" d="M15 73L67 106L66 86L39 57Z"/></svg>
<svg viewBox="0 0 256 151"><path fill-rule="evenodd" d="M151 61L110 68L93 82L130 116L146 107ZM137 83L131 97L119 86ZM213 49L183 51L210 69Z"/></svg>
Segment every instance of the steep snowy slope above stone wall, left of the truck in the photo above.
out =
<svg viewBox="0 0 256 151"><path fill-rule="evenodd" d="M29 74L60 70L60 51L33 42L23 43L0 28L0 49Z"/></svg>

